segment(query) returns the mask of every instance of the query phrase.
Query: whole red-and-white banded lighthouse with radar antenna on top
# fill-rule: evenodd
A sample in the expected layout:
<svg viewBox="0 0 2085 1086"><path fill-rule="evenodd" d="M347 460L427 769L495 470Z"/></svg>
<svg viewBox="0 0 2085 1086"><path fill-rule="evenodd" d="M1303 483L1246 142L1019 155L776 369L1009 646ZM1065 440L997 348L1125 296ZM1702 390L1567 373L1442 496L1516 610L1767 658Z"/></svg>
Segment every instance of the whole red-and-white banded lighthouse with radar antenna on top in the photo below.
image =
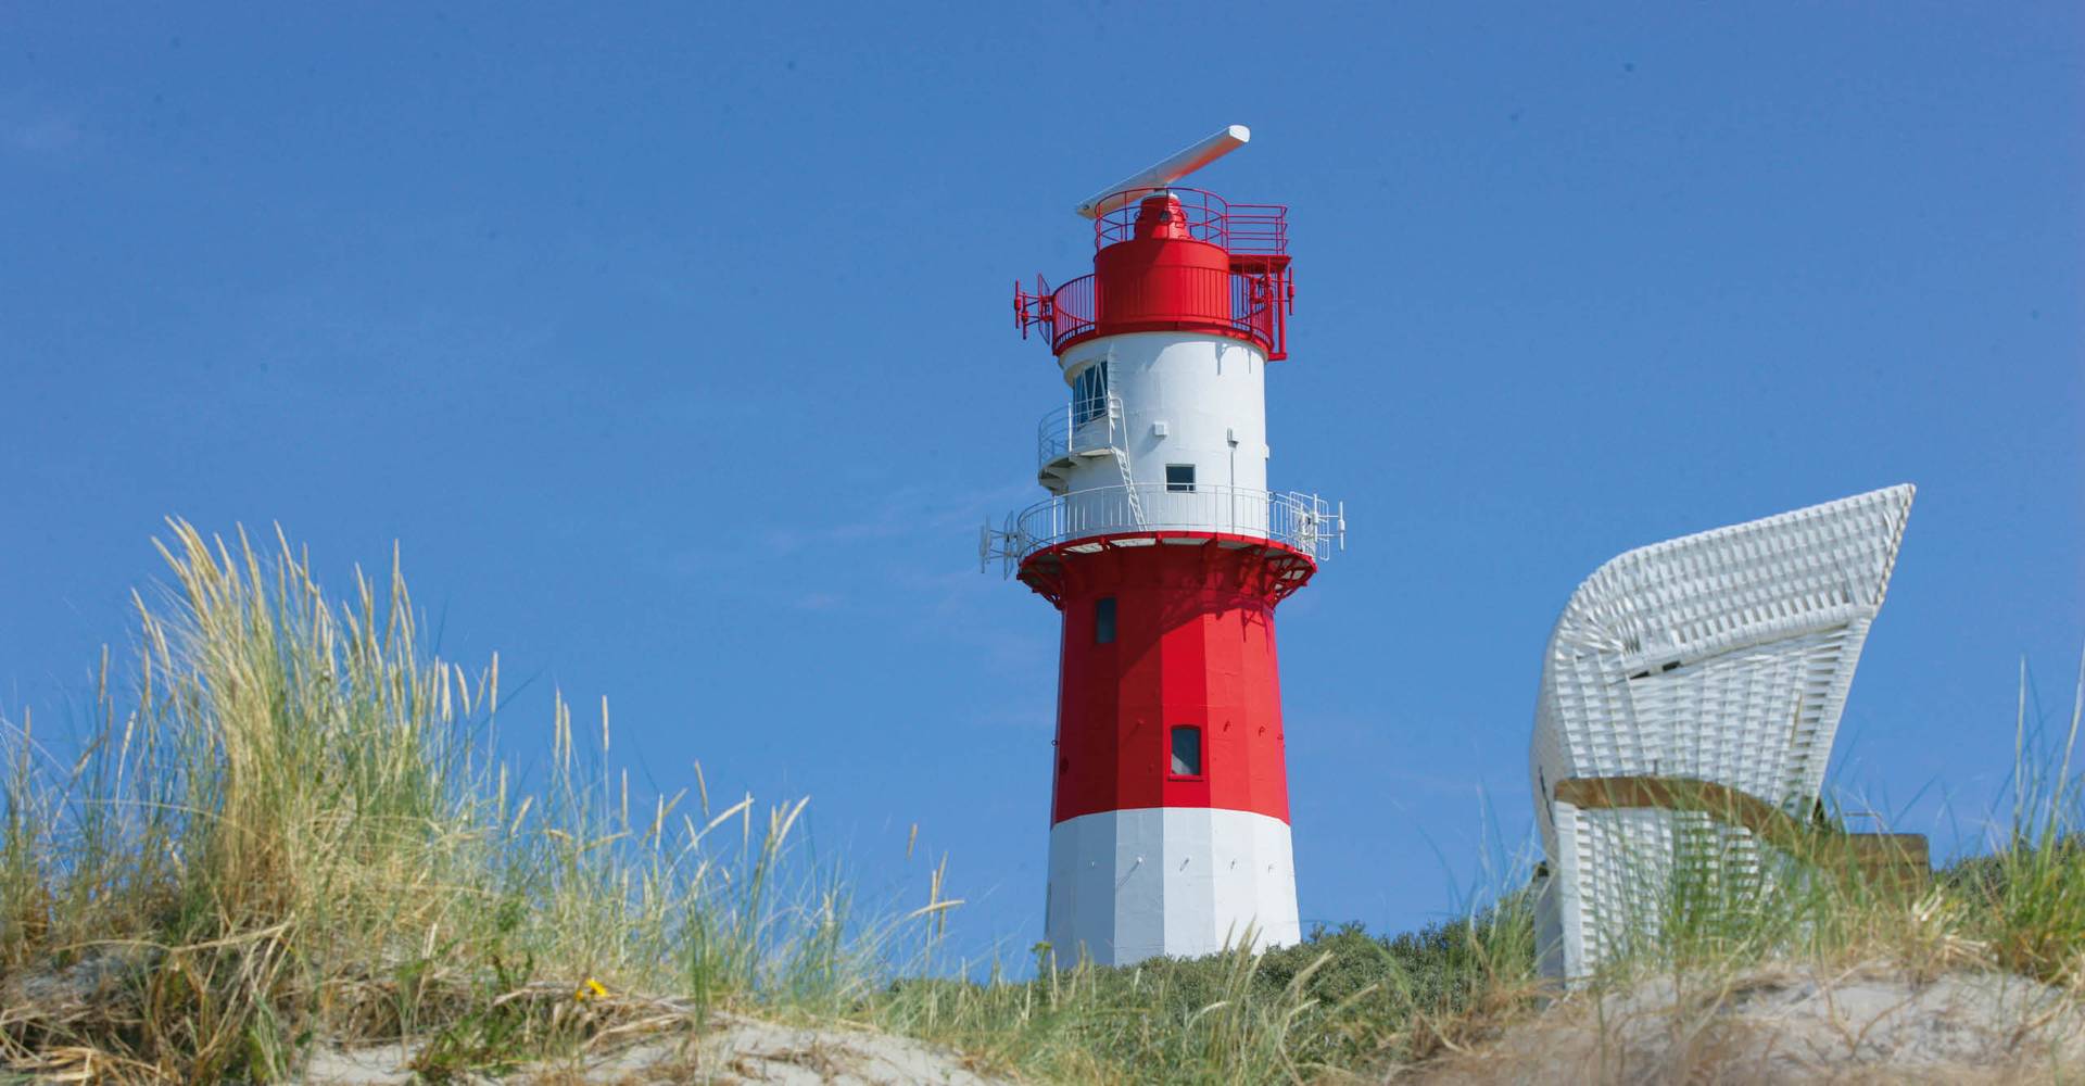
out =
<svg viewBox="0 0 2085 1086"><path fill-rule="evenodd" d="M1093 273L1013 290L1065 400L1036 429L1049 498L986 525L980 559L1061 615L1045 938L1065 965L1301 936L1274 609L1345 511L1268 486L1286 208L1178 183L1247 140L1082 202Z"/></svg>

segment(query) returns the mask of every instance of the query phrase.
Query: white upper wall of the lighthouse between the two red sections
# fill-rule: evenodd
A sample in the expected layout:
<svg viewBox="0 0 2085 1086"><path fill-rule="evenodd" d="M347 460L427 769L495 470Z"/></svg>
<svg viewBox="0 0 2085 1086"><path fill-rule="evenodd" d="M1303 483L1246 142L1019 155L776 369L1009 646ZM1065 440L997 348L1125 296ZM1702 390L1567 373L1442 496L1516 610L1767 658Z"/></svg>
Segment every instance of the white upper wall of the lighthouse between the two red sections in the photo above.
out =
<svg viewBox="0 0 2085 1086"><path fill-rule="evenodd" d="M1059 359L1065 384L1103 361L1136 484L1163 486L1166 465L1191 463L1197 486L1268 488L1268 359L1257 346L1182 331L1105 336ZM1074 492L1101 486L1122 486L1111 456L1080 463L1070 479Z"/></svg>

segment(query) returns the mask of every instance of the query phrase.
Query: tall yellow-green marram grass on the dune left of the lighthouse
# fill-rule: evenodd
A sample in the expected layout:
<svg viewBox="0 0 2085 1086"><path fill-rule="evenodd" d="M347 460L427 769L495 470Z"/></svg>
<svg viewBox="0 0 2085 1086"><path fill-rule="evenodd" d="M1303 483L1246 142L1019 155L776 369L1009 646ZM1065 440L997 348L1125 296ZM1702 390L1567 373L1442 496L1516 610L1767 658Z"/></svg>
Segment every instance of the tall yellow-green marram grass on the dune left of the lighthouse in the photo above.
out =
<svg viewBox="0 0 2085 1086"><path fill-rule="evenodd" d="M136 665L104 652L77 752L27 713L4 732L17 1067L265 1080L313 1038L400 1036L467 1065L598 1028L603 994L867 990L882 932L790 861L801 800L713 805L698 767L692 796L632 800L598 757L607 707L594 746L561 698L523 786L494 748L498 661L425 650L396 557L342 602L275 544L173 521L169 592L136 596Z"/></svg>

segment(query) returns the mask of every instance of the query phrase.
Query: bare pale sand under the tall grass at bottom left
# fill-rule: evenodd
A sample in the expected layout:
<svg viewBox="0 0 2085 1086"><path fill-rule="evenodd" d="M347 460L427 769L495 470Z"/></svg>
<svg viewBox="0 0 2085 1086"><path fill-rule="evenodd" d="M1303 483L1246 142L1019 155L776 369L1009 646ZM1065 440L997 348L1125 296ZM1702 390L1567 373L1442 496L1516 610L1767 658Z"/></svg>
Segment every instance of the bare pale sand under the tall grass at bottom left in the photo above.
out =
<svg viewBox="0 0 2085 1086"><path fill-rule="evenodd" d="M382 1086L413 1082L411 1051L398 1044L332 1048L313 1057L311 1086ZM584 1059L477 1078L482 1084L665 1084L761 1082L842 1086L997 1086L1005 1080L970 1071L957 1053L911 1038L847 1028L799 1028L726 1017L696 1042L644 1042Z"/></svg>

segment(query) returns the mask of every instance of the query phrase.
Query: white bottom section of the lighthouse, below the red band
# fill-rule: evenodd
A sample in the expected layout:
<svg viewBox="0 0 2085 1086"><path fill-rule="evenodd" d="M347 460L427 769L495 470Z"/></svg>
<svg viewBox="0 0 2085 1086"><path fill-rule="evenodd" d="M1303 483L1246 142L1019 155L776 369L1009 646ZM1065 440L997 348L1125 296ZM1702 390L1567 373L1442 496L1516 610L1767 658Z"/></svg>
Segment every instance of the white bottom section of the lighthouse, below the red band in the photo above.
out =
<svg viewBox="0 0 2085 1086"><path fill-rule="evenodd" d="M1301 938L1289 823L1218 807L1143 807L1049 832L1045 932L1059 965L1199 957Z"/></svg>

